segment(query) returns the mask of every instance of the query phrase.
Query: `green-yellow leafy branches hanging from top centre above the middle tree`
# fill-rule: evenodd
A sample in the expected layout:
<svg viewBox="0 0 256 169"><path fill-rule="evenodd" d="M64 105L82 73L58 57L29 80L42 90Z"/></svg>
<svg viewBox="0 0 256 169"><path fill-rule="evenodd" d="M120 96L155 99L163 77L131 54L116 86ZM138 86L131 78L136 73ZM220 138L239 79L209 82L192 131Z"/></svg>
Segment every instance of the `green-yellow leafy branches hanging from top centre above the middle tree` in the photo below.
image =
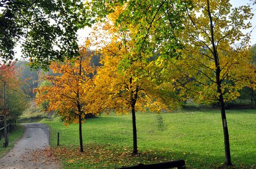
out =
<svg viewBox="0 0 256 169"><path fill-rule="evenodd" d="M182 31L181 21L190 6L190 1L128 1L117 22L123 30L130 25L136 29L131 37L135 42L131 52L138 55L133 59L142 59L141 52L152 56L153 52L161 51L171 57L178 56L177 49L182 46L175 34Z"/></svg>

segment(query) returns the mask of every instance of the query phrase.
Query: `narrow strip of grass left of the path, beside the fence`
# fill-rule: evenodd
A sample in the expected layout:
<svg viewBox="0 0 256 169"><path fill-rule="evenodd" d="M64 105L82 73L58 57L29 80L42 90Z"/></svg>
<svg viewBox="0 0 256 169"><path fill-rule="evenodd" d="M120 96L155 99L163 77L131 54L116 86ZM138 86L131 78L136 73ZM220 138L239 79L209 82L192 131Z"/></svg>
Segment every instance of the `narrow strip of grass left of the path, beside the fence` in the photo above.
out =
<svg viewBox="0 0 256 169"><path fill-rule="evenodd" d="M5 142L5 138L2 136L0 140L0 158L2 158L6 153L10 152L12 148L14 148L14 144L16 141L20 139L20 137L24 134L25 127L21 124L17 124L15 126L14 131L10 132L9 135L9 145L7 148L3 147L3 143Z"/></svg>

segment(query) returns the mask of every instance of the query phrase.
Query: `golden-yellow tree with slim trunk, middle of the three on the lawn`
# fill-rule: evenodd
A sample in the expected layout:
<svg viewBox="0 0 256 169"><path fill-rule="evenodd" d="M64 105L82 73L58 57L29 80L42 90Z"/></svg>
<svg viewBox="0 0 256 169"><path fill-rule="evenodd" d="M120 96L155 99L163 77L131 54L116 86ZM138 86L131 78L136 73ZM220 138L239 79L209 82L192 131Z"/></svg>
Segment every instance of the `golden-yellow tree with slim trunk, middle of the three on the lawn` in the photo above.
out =
<svg viewBox="0 0 256 169"><path fill-rule="evenodd" d="M133 52L135 41L130 37L136 33L134 26L123 28L116 25L123 7L117 7L103 25L97 25L95 36L100 47L101 64L95 76L95 91L93 92L93 106L96 112L112 111L117 114L132 114L133 120L133 154L138 153L136 133L136 112L161 112L170 107L178 106L175 94L157 86L151 81L154 65L150 62L151 55L141 53L140 60ZM126 26L126 25L125 25ZM99 39L103 39L99 42Z"/></svg>

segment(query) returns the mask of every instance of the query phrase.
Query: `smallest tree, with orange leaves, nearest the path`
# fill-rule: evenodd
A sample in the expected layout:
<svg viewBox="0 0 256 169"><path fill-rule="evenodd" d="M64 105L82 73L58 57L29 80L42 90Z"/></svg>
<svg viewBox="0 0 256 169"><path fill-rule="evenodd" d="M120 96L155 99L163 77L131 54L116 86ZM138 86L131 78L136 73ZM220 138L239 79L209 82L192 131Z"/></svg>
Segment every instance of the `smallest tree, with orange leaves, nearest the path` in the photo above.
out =
<svg viewBox="0 0 256 169"><path fill-rule="evenodd" d="M87 48L80 48L80 56L65 62L53 62L50 69L54 75L44 75L44 80L51 85L36 88L37 103L49 100L48 110L57 110L65 124L79 123L80 152L83 152L82 122L91 111L92 79L89 74L95 69L90 65L91 52ZM96 113L94 113L96 114Z"/></svg>

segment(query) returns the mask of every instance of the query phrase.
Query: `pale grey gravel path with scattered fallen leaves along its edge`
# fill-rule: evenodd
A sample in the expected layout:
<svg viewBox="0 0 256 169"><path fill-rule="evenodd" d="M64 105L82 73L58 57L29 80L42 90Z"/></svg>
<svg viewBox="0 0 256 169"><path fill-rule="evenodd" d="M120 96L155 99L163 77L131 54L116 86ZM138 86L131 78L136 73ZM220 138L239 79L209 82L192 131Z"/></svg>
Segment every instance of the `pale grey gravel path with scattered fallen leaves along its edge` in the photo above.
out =
<svg viewBox="0 0 256 169"><path fill-rule="evenodd" d="M41 123L24 126L24 136L0 159L0 168L61 168L55 158L44 153L49 146L49 127Z"/></svg>

